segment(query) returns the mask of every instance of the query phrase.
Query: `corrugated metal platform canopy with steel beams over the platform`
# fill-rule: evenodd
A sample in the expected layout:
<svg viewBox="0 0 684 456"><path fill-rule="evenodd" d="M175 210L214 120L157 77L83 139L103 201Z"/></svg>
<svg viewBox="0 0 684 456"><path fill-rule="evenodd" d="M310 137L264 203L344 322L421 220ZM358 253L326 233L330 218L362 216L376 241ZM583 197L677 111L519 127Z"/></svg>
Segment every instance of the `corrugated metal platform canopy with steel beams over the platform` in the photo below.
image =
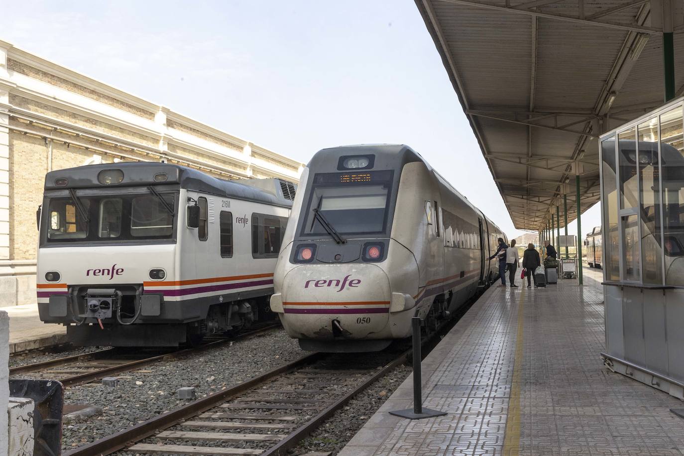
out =
<svg viewBox="0 0 684 456"><path fill-rule="evenodd" d="M575 219L576 175L599 201L596 138L684 94L682 0L415 1L518 229Z"/></svg>

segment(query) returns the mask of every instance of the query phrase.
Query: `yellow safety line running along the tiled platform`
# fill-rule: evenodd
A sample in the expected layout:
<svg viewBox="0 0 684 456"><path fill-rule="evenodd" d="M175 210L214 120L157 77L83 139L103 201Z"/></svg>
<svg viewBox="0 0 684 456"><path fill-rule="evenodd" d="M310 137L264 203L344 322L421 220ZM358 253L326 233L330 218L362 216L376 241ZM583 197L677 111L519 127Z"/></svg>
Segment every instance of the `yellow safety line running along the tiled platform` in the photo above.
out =
<svg viewBox="0 0 684 456"><path fill-rule="evenodd" d="M523 329L525 315L525 289L521 289L518 296L518 334L516 334L515 358L513 364L513 380L511 382L510 399L508 402L508 419L503 438L503 455L518 456L520 452L520 389L523 376Z"/></svg>

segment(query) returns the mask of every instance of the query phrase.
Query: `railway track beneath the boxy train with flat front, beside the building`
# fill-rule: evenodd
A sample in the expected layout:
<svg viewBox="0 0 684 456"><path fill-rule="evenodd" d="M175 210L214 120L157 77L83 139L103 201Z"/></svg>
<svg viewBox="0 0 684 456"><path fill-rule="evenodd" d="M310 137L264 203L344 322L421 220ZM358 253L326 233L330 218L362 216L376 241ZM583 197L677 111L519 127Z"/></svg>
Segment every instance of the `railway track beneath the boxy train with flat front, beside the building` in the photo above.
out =
<svg viewBox="0 0 684 456"><path fill-rule="evenodd" d="M149 352L145 354L139 351L131 353L130 350L108 348L81 355L66 356L55 360L16 366L10 368L10 376L16 377L17 375L29 374L31 377L58 380L65 387L77 386L103 379L104 377L129 372L154 364L155 362L168 361L187 356L196 351L218 347L230 343L237 338L254 336L277 327L280 327L280 325L268 324L241 332L235 337L216 338L215 340L208 340L198 347L166 351L161 354L159 354L158 350L151 354Z"/></svg>

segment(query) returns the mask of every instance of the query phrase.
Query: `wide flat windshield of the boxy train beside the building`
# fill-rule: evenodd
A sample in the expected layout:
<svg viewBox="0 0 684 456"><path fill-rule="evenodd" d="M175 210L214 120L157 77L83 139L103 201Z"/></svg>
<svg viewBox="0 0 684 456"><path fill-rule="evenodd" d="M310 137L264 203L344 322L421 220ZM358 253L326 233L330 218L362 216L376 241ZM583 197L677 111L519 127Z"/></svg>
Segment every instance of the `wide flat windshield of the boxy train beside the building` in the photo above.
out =
<svg viewBox="0 0 684 456"><path fill-rule="evenodd" d="M176 199L174 193L49 198L44 205L48 208L44 239L48 243L172 239Z"/></svg>

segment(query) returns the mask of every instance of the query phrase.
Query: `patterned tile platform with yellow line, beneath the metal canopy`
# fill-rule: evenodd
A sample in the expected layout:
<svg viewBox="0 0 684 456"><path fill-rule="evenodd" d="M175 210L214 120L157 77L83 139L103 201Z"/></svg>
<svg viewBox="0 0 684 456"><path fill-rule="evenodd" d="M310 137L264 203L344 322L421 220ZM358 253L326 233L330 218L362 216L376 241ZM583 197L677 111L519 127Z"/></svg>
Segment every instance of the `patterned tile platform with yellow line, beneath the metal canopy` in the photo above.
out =
<svg viewBox="0 0 684 456"><path fill-rule="evenodd" d="M682 455L678 399L612 373L601 271L584 284L492 287L423 360L423 407L407 420L412 375L340 456Z"/></svg>

